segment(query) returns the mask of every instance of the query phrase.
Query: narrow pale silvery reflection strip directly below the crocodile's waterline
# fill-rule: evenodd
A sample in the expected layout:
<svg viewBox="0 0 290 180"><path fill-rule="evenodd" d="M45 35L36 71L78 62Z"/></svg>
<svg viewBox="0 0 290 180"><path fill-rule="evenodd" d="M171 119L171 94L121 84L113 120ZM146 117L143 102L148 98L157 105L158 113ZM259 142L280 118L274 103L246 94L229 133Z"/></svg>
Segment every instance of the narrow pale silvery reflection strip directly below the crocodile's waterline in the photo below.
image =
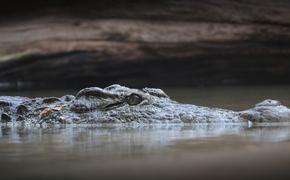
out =
<svg viewBox="0 0 290 180"><path fill-rule="evenodd" d="M65 144L140 142L167 144L176 139L237 135L250 141L287 141L289 124L151 124L151 125L64 125L55 128L5 126L0 143L41 143L44 140Z"/></svg>

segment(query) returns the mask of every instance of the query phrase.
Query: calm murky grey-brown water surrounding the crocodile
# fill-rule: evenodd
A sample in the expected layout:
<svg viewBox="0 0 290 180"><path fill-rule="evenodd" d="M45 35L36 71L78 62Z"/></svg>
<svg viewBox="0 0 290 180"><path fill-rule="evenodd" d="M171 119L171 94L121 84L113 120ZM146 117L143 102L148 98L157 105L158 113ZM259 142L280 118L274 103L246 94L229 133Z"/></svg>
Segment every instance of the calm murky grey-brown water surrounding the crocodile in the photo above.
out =
<svg viewBox="0 0 290 180"><path fill-rule="evenodd" d="M167 89L172 99L241 110L289 86ZM71 91L2 92L61 96ZM0 129L1 179L289 179L289 124L83 125Z"/></svg>

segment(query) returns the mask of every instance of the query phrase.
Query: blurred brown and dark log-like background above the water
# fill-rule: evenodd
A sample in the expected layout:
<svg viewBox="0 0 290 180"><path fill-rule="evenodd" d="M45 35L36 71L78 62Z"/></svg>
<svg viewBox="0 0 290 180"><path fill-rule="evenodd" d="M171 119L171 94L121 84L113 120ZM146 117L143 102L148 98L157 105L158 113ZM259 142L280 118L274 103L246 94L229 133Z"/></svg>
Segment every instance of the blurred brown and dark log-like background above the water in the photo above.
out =
<svg viewBox="0 0 290 180"><path fill-rule="evenodd" d="M37 1L1 9L2 84L290 82L288 0Z"/></svg>

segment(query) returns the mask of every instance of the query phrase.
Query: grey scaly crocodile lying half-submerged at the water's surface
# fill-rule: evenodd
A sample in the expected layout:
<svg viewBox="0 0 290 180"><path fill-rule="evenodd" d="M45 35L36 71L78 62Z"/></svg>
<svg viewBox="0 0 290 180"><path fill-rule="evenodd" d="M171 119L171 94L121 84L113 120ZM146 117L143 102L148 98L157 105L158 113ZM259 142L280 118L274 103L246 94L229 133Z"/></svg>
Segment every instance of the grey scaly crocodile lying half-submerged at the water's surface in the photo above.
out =
<svg viewBox="0 0 290 180"><path fill-rule="evenodd" d="M181 104L161 89L121 85L89 87L75 96L0 97L1 124L240 123L290 122L290 109L267 99L233 111Z"/></svg>

